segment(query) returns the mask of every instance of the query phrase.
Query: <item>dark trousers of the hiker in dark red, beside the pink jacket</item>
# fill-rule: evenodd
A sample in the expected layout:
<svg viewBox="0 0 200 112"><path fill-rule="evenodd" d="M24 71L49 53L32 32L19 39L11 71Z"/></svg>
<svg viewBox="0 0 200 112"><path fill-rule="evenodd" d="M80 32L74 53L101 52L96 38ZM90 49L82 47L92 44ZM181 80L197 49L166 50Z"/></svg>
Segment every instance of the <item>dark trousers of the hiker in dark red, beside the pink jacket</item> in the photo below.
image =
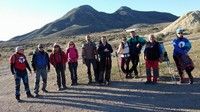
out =
<svg viewBox="0 0 200 112"><path fill-rule="evenodd" d="M56 74L57 74L57 84L58 88L61 88L61 82L63 88L66 87L66 79L65 79L65 66L64 64L56 65Z"/></svg>

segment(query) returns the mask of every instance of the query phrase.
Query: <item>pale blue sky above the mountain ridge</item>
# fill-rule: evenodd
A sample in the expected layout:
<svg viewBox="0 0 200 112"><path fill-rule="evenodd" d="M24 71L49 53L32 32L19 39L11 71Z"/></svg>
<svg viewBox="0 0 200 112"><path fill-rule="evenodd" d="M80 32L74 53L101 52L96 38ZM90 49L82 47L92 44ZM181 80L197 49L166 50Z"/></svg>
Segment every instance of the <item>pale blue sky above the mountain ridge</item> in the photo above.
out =
<svg viewBox="0 0 200 112"><path fill-rule="evenodd" d="M113 13L121 6L140 11L169 12L177 16L200 10L200 0L1 0L0 40L38 29L72 8L86 4L107 13Z"/></svg>

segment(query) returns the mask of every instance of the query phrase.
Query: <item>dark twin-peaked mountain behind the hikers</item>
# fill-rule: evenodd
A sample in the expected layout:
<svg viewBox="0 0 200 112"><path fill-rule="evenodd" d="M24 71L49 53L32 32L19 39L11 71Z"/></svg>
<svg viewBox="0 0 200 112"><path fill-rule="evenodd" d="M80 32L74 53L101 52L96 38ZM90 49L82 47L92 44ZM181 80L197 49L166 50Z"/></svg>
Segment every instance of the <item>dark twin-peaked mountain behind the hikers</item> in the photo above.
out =
<svg viewBox="0 0 200 112"><path fill-rule="evenodd" d="M163 12L142 12L129 7L120 7L112 14L99 12L89 5L74 8L63 17L48 23L40 29L12 38L22 41L44 37L65 37L111 29L127 28L134 24L155 24L172 22L177 16Z"/></svg>

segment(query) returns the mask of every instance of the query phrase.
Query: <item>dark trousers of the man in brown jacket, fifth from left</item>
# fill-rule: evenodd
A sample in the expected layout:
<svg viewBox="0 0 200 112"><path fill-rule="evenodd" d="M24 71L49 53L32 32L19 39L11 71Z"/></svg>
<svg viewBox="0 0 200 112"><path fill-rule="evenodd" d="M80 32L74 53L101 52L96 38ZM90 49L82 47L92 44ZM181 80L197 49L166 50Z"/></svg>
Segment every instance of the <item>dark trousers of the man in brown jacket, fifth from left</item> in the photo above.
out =
<svg viewBox="0 0 200 112"><path fill-rule="evenodd" d="M95 81L98 82L98 68L96 59L85 59L85 64L87 66L87 74L89 82L92 82L91 64L93 66Z"/></svg>

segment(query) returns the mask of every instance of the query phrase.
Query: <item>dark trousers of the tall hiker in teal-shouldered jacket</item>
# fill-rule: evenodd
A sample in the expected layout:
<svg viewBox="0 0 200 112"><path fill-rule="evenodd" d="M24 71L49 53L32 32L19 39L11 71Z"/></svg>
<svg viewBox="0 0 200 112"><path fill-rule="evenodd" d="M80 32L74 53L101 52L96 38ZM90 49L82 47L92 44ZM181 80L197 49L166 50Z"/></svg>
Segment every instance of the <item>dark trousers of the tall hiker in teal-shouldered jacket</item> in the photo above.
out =
<svg viewBox="0 0 200 112"><path fill-rule="evenodd" d="M139 55L131 55L130 57L131 62L132 62L132 67L130 68L130 74L134 71L135 75L138 76L138 62L139 62Z"/></svg>

